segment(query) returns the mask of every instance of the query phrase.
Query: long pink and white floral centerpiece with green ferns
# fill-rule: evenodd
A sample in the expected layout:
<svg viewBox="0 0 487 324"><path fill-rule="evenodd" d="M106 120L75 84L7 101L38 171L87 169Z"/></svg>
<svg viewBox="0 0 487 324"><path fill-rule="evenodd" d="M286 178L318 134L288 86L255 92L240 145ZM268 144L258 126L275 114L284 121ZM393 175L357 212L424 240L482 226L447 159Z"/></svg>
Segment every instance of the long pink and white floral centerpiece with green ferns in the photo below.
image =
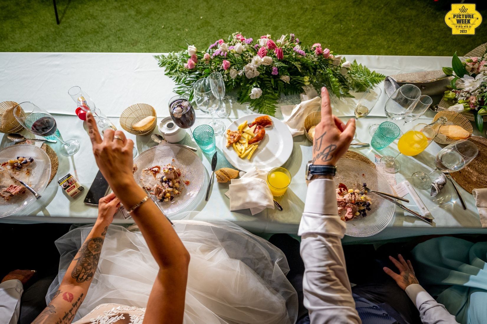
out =
<svg viewBox="0 0 487 324"><path fill-rule="evenodd" d="M205 51L189 45L187 51L154 57L178 85L175 92L186 93L189 100L196 80L219 71L226 91L237 90L239 103L249 103L252 110L268 115L274 115L281 94L299 94L305 85L317 90L326 86L337 97L353 97L351 90L365 91L385 77L319 43L303 46L294 34L254 40L237 32Z"/></svg>

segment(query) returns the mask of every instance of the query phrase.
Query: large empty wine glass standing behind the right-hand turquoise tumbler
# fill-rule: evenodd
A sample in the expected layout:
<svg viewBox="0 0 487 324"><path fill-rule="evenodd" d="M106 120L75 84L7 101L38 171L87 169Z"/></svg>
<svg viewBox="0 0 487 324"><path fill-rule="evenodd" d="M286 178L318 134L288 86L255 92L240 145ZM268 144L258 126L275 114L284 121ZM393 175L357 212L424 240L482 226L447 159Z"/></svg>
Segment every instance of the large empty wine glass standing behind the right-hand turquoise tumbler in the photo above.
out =
<svg viewBox="0 0 487 324"><path fill-rule="evenodd" d="M421 96L421 90L412 84L402 85L394 91L393 95L386 101L384 112L387 121L404 119L416 106ZM378 124L369 127L369 133L374 135Z"/></svg>

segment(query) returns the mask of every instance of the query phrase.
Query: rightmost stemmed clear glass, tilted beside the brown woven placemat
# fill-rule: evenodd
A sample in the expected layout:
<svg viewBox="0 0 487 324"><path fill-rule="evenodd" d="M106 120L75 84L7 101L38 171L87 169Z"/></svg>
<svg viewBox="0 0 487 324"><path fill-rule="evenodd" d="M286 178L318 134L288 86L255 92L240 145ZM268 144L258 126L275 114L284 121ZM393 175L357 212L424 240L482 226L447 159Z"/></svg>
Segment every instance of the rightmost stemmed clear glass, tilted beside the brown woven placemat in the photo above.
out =
<svg viewBox="0 0 487 324"><path fill-rule="evenodd" d="M441 149L434 159L435 169L429 174L424 172L414 172L412 174L412 184L419 189L431 187L431 174L436 170L444 173L455 172L463 169L472 162L479 153L475 144L467 140L456 141L453 144Z"/></svg>

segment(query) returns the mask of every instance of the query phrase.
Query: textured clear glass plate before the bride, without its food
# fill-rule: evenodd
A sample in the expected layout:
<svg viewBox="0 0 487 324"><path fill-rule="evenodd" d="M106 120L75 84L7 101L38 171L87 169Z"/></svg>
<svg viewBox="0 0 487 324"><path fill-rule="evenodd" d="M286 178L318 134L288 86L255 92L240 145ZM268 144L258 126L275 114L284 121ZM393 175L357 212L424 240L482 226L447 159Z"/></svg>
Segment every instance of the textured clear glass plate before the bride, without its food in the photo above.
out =
<svg viewBox="0 0 487 324"><path fill-rule="evenodd" d="M142 187L140 180L142 170L154 165L164 166L171 163L181 169L181 187L179 195L174 196L172 201L157 201L164 214L170 219L180 219L184 217L186 211L193 210L201 200L202 189L206 189L208 178L206 169L201 159L190 149L177 144L160 144L147 151L142 152L133 162L137 164L137 171L133 177L137 184ZM185 184L189 181L189 184Z"/></svg>

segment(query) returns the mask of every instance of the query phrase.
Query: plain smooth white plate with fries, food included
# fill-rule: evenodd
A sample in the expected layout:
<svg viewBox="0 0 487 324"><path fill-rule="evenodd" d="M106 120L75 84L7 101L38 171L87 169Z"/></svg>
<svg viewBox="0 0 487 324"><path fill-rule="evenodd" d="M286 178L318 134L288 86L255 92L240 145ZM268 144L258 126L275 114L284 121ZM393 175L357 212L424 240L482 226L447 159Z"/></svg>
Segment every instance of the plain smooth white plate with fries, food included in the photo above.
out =
<svg viewBox="0 0 487 324"><path fill-rule="evenodd" d="M291 132L279 119L262 114L241 117L223 136L222 151L234 167L249 172L284 164L293 151Z"/></svg>

